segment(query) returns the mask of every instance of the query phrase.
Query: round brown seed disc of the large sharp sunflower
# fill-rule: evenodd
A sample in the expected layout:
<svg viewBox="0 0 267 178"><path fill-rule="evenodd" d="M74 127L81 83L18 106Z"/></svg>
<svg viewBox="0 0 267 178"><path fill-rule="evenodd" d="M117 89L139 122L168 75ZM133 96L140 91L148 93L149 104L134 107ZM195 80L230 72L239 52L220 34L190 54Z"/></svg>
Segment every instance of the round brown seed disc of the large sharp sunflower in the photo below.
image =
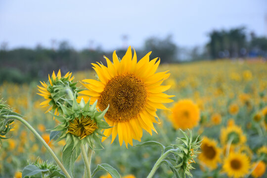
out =
<svg viewBox="0 0 267 178"><path fill-rule="evenodd" d="M98 106L106 117L115 122L126 122L137 116L146 103L146 87L132 74L116 76L109 81L99 97Z"/></svg>

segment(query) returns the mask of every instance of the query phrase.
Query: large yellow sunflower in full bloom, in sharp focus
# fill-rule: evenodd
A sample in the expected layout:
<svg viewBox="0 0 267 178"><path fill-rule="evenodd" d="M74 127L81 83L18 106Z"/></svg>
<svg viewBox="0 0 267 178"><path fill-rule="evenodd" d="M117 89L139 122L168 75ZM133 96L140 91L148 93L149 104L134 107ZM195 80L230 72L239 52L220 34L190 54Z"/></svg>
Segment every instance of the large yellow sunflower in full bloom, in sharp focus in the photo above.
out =
<svg viewBox="0 0 267 178"><path fill-rule="evenodd" d="M106 129L104 135L112 134L111 143L118 134L120 145L123 141L126 146L128 143L133 145L133 139L141 140L142 129L152 135L151 130L156 132L153 123L157 123L157 109L167 109L162 103L173 102L169 98L173 95L163 93L171 86L161 86L170 74L168 71L155 73L160 60L149 61L150 53L137 62L135 51L132 58L131 46L122 60L114 51L113 63L104 56L107 67L100 63L92 64L99 81L83 80L88 90L80 92L84 94L80 99L87 102L90 98L90 103L98 100L100 110L109 105L104 118L112 128ZM102 137L102 141L105 139Z"/></svg>

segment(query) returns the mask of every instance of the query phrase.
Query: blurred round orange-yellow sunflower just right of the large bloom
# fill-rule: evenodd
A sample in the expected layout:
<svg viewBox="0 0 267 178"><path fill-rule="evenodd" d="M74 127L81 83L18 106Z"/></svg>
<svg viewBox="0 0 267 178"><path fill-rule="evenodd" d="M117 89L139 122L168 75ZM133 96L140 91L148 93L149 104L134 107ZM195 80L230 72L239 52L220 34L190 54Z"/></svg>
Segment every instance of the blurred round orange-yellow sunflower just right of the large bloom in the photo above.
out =
<svg viewBox="0 0 267 178"><path fill-rule="evenodd" d="M179 100L172 108L171 121L176 129L192 129L198 125L200 110L189 99Z"/></svg>

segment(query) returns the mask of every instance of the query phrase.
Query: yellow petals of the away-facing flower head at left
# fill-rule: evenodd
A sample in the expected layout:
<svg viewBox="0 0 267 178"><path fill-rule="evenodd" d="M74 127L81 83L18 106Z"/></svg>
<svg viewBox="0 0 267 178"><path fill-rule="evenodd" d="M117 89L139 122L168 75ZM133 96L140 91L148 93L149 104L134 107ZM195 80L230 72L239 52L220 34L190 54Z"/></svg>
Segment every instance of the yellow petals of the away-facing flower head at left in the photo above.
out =
<svg viewBox="0 0 267 178"><path fill-rule="evenodd" d="M72 81L74 76L71 77L71 74L72 73L68 72L63 78L67 78L69 81ZM53 71L53 74L52 74L51 78L53 79L53 81L55 81L56 79L61 79L60 70L58 71L57 75L55 75L55 72ZM51 78L50 78L50 76L48 74L49 84L51 86L53 86L53 82L52 82ZM37 93L37 94L39 94L40 96L43 96L46 99L45 101L41 102L40 105L41 105L41 107L49 107L50 106L48 108L48 110L46 111L46 112L48 112L48 111L51 111L53 109L53 107L55 107L54 106L55 104L52 103L52 104L49 105L50 102L54 102L54 101L52 100L51 93L47 90L48 89L48 85L45 82L41 82L40 81L40 83L42 84L43 87L37 86L39 88L38 90L41 92L41 93ZM54 114L55 115L58 114L57 108L55 108L55 113Z"/></svg>

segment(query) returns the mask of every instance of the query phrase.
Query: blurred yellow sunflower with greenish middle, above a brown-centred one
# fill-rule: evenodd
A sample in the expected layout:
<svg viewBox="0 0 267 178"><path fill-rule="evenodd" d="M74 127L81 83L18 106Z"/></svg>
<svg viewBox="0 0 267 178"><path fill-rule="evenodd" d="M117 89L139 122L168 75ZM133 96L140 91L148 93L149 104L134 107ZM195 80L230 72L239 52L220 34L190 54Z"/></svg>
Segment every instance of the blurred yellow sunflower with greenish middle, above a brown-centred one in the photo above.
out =
<svg viewBox="0 0 267 178"><path fill-rule="evenodd" d="M222 145L227 144L231 141L231 145L237 146L242 145L247 140L246 136L240 127L233 125L221 130L221 143Z"/></svg>

